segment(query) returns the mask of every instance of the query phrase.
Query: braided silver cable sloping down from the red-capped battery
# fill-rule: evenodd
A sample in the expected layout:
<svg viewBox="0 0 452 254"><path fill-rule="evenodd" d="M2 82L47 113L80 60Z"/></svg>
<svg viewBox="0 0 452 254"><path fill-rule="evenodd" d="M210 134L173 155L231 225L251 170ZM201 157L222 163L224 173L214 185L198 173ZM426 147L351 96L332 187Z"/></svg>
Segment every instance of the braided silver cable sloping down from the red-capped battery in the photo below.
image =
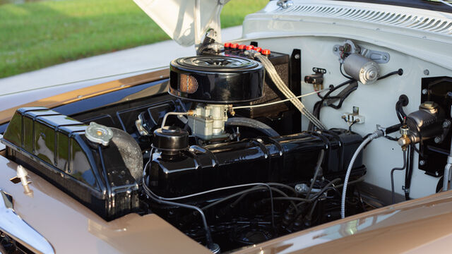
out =
<svg viewBox="0 0 452 254"><path fill-rule="evenodd" d="M267 73L270 75L271 80L273 80L273 83L275 83L276 87L283 93L283 95L288 98L296 97L294 93L285 85L284 81L280 78L278 73L275 70L275 67L273 64L268 60L266 56L261 55L260 53L256 52L254 53L254 56L261 61L262 65L266 68ZM313 123L317 128L324 130L326 129L326 126L321 123L319 119L314 116L306 107L304 107L304 104L299 101L299 99L291 99L290 102L294 104L297 109L304 114L304 116L307 117L311 123Z"/></svg>

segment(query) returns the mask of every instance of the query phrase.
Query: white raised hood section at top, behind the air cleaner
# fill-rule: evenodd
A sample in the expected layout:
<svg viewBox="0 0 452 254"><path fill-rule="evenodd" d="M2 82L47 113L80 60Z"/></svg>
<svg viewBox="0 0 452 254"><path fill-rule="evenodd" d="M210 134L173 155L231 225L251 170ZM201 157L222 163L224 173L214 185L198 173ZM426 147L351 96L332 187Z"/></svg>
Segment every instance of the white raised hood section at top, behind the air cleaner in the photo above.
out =
<svg viewBox="0 0 452 254"><path fill-rule="evenodd" d="M133 0L182 46L198 45L204 33L213 28L220 41L220 12L230 0Z"/></svg>

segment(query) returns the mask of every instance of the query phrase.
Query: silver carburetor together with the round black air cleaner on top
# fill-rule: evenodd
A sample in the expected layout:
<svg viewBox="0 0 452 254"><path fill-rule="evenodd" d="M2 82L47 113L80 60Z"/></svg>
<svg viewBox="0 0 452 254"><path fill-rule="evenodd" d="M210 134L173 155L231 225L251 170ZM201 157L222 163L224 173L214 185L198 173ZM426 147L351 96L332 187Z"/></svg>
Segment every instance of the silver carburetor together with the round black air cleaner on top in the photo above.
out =
<svg viewBox="0 0 452 254"><path fill-rule="evenodd" d="M191 132L203 140L227 138L230 104L263 96L261 63L233 56L191 56L170 65L169 94L196 104L189 114Z"/></svg>

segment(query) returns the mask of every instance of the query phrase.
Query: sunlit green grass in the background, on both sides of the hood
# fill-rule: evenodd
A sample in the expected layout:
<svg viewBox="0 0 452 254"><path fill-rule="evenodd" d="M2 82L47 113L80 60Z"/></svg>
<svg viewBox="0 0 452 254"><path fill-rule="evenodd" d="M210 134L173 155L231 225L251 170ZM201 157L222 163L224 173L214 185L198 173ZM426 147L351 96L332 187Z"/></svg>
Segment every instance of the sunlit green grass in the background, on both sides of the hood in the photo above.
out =
<svg viewBox="0 0 452 254"><path fill-rule="evenodd" d="M233 0L222 28L268 0ZM132 0L62 0L0 5L0 78L57 63L169 40Z"/></svg>

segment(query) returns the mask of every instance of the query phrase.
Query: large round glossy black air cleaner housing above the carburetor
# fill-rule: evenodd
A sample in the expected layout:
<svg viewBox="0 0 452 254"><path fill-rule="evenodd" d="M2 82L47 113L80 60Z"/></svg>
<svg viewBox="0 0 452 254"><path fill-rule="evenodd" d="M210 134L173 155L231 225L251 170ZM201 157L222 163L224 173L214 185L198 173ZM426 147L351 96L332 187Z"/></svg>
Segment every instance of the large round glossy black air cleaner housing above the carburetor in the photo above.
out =
<svg viewBox="0 0 452 254"><path fill-rule="evenodd" d="M210 104L250 102L263 96L261 63L233 56L191 56L170 64L169 94Z"/></svg>

